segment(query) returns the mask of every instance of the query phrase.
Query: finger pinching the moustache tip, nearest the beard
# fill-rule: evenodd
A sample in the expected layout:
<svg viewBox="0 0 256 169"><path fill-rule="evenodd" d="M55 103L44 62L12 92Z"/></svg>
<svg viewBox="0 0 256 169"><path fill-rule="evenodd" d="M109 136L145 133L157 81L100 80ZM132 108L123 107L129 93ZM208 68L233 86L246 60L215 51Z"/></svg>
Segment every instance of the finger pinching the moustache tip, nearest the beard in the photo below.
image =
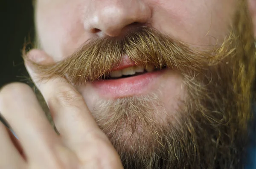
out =
<svg viewBox="0 0 256 169"><path fill-rule="evenodd" d="M49 63L49 60L51 60L42 51L32 50L28 54L28 57L33 59L37 56L40 58L41 64ZM44 61L42 61L42 57L45 58ZM113 164L122 166L115 149L108 140L108 137L97 126L79 92L64 78L55 77L41 81L40 74L33 71L33 67L27 62L26 67L47 101L50 112L53 115L55 126L60 132L61 137L66 140L68 146L80 158L83 157L85 159L89 159L92 156L99 158L102 155L102 149L104 149L104 152L109 154L109 161L117 161ZM97 147L102 147L102 149ZM88 153L89 149L91 151ZM85 153L86 151L87 153ZM103 158L106 159L107 157Z"/></svg>

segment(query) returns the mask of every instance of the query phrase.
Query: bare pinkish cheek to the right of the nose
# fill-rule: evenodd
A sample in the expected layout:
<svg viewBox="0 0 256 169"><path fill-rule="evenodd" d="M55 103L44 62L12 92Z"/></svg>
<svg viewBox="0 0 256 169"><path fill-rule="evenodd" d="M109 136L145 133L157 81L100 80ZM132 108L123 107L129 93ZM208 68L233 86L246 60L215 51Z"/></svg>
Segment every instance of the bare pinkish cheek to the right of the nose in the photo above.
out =
<svg viewBox="0 0 256 169"><path fill-rule="evenodd" d="M158 0L152 4L156 6L152 26L186 43L200 47L215 45L228 34L235 1Z"/></svg>

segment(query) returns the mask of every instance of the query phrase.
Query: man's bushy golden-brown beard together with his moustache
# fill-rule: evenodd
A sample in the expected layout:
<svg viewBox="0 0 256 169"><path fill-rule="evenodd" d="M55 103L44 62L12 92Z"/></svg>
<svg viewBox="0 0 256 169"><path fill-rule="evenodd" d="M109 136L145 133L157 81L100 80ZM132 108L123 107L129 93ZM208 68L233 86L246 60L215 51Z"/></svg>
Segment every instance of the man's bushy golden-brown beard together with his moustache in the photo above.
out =
<svg viewBox="0 0 256 169"><path fill-rule="evenodd" d="M160 92L99 100L92 114L125 168L242 168L253 120L256 66L245 1L239 4L229 36L210 50L140 27L121 39L93 39L53 65L32 64L43 72L42 79L61 76L78 86L105 78L124 54L144 67L179 72L186 91L175 113L165 109Z"/></svg>

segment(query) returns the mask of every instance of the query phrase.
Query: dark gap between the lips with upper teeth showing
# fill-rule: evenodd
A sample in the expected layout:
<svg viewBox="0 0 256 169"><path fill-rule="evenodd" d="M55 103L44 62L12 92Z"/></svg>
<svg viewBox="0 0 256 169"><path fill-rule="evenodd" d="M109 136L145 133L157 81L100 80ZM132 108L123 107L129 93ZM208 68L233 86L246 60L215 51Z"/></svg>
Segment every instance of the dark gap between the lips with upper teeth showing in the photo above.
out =
<svg viewBox="0 0 256 169"><path fill-rule="evenodd" d="M160 70L166 69L166 66L162 68L155 68L153 66L148 66L144 68L143 66L131 66L121 70L115 70L108 74L102 76L102 80L114 80L114 79L121 79L127 77L138 76L141 74L149 73L149 72L158 72Z"/></svg>

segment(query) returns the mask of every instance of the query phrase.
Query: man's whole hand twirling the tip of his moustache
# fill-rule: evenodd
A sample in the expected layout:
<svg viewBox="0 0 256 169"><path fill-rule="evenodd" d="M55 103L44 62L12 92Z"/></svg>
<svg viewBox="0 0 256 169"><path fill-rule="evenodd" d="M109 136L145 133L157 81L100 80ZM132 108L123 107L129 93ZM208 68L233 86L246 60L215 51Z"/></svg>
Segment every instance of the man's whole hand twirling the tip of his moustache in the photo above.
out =
<svg viewBox="0 0 256 169"><path fill-rule="evenodd" d="M39 50L29 52L29 57L42 64L52 62ZM0 112L19 140L15 144L0 123L0 169L122 169L119 155L76 89L61 77L38 81L40 74L25 64L47 101L60 135L52 129L29 86L4 86L0 90Z"/></svg>

